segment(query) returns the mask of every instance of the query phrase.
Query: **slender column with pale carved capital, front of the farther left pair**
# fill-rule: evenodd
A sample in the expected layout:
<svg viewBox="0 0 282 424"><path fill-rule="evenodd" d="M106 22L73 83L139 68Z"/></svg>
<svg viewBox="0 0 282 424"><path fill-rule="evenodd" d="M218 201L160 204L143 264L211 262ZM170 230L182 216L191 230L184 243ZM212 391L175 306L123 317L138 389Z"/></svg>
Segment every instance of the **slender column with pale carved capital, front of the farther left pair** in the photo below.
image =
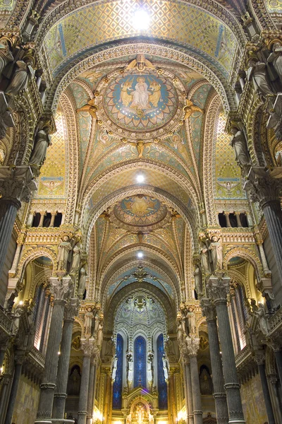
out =
<svg viewBox="0 0 282 424"><path fill-rule="evenodd" d="M80 341L84 355L80 382L80 398L78 403L78 424L86 424L88 388L90 381L90 363L94 348L94 338L84 338Z"/></svg>

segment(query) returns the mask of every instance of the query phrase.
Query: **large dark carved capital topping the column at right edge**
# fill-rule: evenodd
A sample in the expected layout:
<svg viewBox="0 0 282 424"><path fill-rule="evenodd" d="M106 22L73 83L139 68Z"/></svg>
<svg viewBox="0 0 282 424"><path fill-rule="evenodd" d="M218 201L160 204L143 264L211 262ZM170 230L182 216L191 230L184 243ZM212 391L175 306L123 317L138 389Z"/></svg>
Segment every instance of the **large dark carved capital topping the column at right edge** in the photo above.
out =
<svg viewBox="0 0 282 424"><path fill-rule="evenodd" d="M270 202L278 201L281 188L281 179L271 177L268 170L259 166L251 167L244 184L251 201L259 202L262 208Z"/></svg>

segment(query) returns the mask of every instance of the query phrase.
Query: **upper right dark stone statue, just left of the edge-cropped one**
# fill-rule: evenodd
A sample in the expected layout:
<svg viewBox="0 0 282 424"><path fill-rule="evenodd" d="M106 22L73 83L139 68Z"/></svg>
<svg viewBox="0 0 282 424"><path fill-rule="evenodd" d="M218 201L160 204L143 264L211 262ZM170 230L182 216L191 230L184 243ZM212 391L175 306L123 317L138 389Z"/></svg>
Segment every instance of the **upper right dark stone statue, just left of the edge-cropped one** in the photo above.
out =
<svg viewBox="0 0 282 424"><path fill-rule="evenodd" d="M254 57L250 57L247 64L250 66L247 70L247 80L252 80L255 91L261 95L263 100L265 100L267 96L274 96L274 92L269 86L266 64L258 61Z"/></svg>

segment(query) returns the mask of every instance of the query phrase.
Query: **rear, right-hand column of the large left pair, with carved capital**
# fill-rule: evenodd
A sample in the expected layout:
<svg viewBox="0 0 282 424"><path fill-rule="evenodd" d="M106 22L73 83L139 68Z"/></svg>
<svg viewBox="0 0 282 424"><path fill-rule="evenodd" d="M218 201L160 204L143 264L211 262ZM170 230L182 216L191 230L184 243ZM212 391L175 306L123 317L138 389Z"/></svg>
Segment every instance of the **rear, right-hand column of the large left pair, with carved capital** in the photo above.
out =
<svg viewBox="0 0 282 424"><path fill-rule="evenodd" d="M66 405L66 387L68 384L68 365L71 355L71 339L73 335L73 321L78 313L78 299L68 300L63 319L63 334L61 338L61 355L59 357L56 377L56 391L54 395L52 418L63 418Z"/></svg>

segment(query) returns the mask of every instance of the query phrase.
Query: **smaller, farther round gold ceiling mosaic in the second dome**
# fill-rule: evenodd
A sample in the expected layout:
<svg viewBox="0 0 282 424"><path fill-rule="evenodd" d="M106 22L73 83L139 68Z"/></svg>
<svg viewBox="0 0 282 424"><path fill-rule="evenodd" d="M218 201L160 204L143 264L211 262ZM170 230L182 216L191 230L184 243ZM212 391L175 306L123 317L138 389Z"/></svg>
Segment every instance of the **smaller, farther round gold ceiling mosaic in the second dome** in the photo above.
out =
<svg viewBox="0 0 282 424"><path fill-rule="evenodd" d="M114 221L118 220L122 227L137 232L159 227L169 217L164 204L143 194L126 197L114 206Z"/></svg>

